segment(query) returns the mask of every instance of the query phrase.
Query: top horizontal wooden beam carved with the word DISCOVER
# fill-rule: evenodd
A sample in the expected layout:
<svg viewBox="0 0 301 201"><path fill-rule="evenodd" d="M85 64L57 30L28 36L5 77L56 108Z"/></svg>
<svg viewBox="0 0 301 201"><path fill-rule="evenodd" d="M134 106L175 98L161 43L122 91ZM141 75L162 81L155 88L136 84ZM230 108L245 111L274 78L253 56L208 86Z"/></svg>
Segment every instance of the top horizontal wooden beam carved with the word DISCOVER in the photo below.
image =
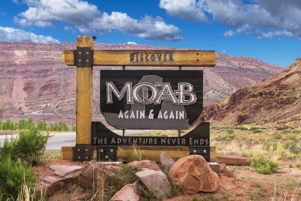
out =
<svg viewBox="0 0 301 201"><path fill-rule="evenodd" d="M73 50L64 50L63 61L65 64L74 65L72 54ZM132 61L131 55L133 56ZM172 55L172 59L169 58L169 55ZM148 61L145 60L146 57ZM215 66L215 61L215 51L213 50L94 50L93 65L210 67Z"/></svg>

